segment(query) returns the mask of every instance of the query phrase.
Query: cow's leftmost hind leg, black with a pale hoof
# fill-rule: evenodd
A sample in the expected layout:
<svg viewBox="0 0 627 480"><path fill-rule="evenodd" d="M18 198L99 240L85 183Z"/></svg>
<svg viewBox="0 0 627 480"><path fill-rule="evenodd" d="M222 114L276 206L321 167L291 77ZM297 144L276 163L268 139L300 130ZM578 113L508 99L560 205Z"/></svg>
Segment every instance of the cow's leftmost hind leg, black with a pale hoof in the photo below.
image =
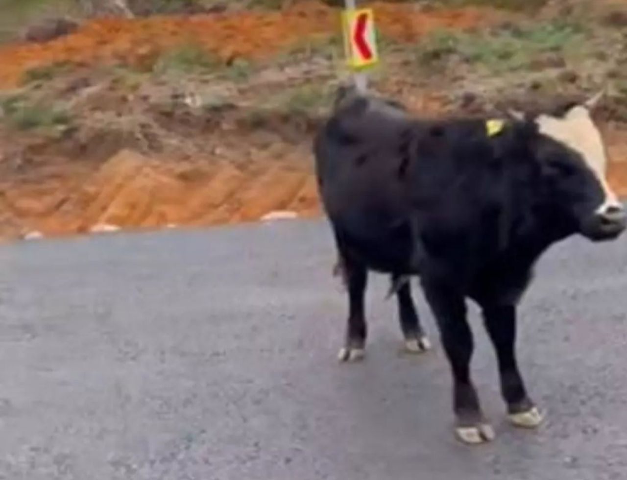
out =
<svg viewBox="0 0 627 480"><path fill-rule="evenodd" d="M349 296L349 318L344 347L340 349L341 362L356 362L364 357L367 325L364 308L366 296L366 266L342 256L342 270Z"/></svg>

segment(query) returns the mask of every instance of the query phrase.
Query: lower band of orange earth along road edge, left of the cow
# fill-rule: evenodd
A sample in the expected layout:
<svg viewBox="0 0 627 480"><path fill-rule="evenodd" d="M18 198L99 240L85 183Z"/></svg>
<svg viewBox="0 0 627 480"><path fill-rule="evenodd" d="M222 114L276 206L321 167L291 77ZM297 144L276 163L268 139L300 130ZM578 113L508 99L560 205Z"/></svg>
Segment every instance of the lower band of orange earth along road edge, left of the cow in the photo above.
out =
<svg viewBox="0 0 627 480"><path fill-rule="evenodd" d="M278 162L263 169L214 162L200 169L174 167L122 150L92 174L69 173L5 190L4 207L21 219L23 233L51 236L107 225L204 226L255 221L275 210L301 216L318 212L309 172Z"/></svg>

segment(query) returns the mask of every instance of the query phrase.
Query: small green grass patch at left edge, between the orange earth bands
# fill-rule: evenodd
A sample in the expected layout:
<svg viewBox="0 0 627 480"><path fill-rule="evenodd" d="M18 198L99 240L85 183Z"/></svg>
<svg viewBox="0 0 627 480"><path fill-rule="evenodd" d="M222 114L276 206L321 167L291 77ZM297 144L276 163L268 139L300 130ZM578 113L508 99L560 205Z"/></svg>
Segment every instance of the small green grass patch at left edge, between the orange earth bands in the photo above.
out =
<svg viewBox="0 0 627 480"><path fill-rule="evenodd" d="M24 95L0 98L4 121L19 130L59 130L70 123L70 115L63 108L42 102L30 102Z"/></svg>

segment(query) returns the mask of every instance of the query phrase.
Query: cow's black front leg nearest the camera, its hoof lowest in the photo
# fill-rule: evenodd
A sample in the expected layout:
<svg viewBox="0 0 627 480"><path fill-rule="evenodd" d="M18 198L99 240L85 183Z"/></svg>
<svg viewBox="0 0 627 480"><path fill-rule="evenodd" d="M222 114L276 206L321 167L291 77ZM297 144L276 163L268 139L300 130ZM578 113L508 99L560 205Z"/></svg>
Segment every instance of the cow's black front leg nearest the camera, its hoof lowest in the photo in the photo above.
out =
<svg viewBox="0 0 627 480"><path fill-rule="evenodd" d="M494 430L485 420L472 378L470 358L473 337L466 321L464 298L455 291L423 281L424 293L433 310L446 357L453 373L453 410L455 433L466 444L480 444L494 439Z"/></svg>

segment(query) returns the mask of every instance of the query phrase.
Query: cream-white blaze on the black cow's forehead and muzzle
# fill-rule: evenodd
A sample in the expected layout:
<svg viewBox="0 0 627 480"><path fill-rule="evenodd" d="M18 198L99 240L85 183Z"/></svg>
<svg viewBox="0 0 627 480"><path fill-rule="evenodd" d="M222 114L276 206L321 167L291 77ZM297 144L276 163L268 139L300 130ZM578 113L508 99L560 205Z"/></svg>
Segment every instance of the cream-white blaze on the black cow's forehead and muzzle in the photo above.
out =
<svg viewBox="0 0 627 480"><path fill-rule="evenodd" d="M608 157L601 133L594 125L589 110L582 105L577 105L571 108L563 118L540 115L536 123L540 133L575 150L593 171L605 192L605 201L599 206L598 211L602 212L610 206L620 207L616 194L609 188L606 180Z"/></svg>

